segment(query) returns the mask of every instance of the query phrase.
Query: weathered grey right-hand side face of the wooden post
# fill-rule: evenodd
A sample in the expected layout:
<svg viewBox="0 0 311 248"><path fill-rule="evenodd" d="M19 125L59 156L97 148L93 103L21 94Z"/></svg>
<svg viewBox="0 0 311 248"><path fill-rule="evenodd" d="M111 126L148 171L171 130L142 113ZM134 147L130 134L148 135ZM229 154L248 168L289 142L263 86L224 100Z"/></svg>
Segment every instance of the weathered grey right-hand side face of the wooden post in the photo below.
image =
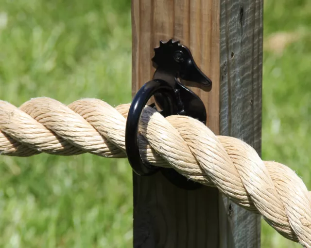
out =
<svg viewBox="0 0 311 248"><path fill-rule="evenodd" d="M220 132L244 140L261 154L262 0L221 0ZM233 240L222 247L260 247L260 217L225 197L221 228ZM224 205L222 204L224 203ZM222 233L222 232L221 232Z"/></svg>

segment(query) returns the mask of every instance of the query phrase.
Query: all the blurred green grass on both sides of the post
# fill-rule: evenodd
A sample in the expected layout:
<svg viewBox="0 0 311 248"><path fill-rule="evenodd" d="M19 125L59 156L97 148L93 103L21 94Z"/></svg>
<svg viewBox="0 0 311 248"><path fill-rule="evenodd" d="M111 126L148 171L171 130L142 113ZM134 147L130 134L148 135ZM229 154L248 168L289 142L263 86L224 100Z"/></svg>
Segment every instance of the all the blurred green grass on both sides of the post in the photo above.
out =
<svg viewBox="0 0 311 248"><path fill-rule="evenodd" d="M265 0L262 157L308 188L310 76L311 1ZM130 102L129 0L0 1L0 99L36 96ZM131 247L132 210L125 159L0 157L0 247ZM262 222L262 247L300 246Z"/></svg>

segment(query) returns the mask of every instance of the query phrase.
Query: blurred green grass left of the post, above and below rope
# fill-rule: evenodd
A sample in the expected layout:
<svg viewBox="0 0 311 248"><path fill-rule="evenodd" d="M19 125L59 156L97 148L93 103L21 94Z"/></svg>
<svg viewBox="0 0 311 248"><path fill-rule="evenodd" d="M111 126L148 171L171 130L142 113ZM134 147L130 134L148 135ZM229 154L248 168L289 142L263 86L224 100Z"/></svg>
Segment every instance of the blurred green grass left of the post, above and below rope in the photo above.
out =
<svg viewBox="0 0 311 248"><path fill-rule="evenodd" d="M0 87L17 106L130 102L130 2L0 1ZM0 247L130 247L132 204L125 159L0 158Z"/></svg>

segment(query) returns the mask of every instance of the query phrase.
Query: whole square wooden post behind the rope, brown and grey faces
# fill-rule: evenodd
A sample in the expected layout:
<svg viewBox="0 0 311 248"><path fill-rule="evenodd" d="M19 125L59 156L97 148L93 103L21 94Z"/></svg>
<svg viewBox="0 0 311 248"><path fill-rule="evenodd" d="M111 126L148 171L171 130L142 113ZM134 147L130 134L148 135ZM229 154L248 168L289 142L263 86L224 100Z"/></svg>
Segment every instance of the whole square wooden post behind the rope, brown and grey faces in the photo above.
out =
<svg viewBox="0 0 311 248"><path fill-rule="evenodd" d="M132 0L132 93L153 77L159 40L190 48L212 79L191 88L206 105L207 126L241 138L260 154L263 0ZM135 248L252 248L260 217L203 187L179 189L161 173L133 175Z"/></svg>

